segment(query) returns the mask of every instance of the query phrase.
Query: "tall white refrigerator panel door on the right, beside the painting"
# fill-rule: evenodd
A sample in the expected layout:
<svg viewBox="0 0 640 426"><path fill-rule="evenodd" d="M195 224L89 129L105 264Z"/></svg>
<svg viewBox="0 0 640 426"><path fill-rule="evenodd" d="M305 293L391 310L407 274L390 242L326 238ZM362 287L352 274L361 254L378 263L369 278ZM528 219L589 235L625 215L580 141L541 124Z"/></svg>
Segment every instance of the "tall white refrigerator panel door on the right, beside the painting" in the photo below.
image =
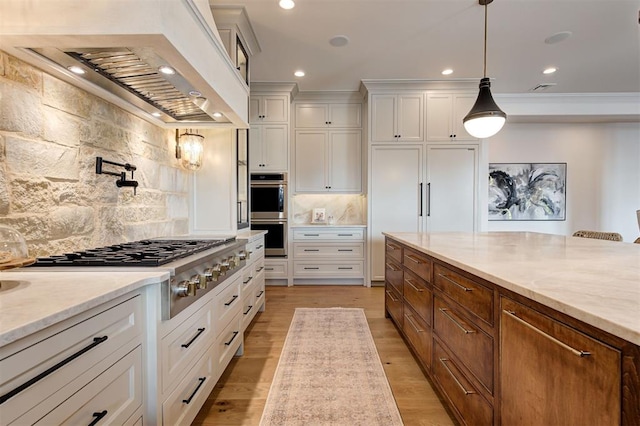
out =
<svg viewBox="0 0 640 426"><path fill-rule="evenodd" d="M428 148L427 231L475 230L477 170L473 146Z"/></svg>

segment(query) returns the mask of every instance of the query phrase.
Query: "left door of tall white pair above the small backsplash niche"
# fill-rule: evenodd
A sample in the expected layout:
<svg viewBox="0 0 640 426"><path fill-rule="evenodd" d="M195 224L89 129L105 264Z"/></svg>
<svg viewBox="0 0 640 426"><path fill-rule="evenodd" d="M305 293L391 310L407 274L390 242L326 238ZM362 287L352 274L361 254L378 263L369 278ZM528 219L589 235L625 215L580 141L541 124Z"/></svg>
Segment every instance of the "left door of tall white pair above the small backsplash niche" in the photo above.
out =
<svg viewBox="0 0 640 426"><path fill-rule="evenodd" d="M325 192L327 133L325 131L296 132L296 191Z"/></svg>

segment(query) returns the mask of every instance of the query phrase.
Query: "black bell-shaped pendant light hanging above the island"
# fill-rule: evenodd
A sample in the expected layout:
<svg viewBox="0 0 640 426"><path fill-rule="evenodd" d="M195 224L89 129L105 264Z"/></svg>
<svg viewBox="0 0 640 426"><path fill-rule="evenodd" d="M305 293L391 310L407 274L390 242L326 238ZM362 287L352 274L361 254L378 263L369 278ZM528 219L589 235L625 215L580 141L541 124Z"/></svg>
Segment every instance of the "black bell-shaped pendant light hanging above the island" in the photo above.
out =
<svg viewBox="0 0 640 426"><path fill-rule="evenodd" d="M480 92L476 103L462 120L467 133L478 139L495 135L507 120L507 114L496 105L491 96L491 81L487 77L487 5L492 1L478 0L484 6L484 77L480 80Z"/></svg>

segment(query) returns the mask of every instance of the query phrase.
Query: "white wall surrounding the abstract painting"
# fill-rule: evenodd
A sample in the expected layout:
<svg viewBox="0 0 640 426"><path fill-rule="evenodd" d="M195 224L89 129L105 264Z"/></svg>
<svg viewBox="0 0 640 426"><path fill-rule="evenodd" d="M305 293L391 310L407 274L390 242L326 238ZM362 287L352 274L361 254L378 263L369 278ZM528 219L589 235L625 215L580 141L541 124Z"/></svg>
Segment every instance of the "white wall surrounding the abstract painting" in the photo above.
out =
<svg viewBox="0 0 640 426"><path fill-rule="evenodd" d="M640 236L639 123L507 123L486 148L490 163L567 163L565 221L490 221L489 231Z"/></svg>

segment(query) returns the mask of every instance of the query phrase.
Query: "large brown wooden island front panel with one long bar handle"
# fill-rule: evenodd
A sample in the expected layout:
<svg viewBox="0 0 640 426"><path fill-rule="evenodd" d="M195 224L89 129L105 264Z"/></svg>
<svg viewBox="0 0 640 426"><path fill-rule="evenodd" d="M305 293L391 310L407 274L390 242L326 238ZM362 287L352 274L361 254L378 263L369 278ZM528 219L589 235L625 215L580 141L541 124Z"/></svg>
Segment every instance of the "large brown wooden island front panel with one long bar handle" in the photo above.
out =
<svg viewBox="0 0 640 426"><path fill-rule="evenodd" d="M500 329L502 424L620 424L618 350L507 298Z"/></svg>

